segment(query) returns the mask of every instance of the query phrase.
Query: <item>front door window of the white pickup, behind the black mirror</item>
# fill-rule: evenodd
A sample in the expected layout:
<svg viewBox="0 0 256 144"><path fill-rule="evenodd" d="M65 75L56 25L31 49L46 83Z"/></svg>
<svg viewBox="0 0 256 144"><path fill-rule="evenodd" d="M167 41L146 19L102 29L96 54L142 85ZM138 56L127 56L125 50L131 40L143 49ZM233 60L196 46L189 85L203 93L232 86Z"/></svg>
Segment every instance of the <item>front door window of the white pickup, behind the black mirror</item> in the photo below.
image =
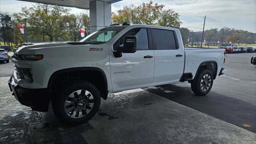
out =
<svg viewBox="0 0 256 144"><path fill-rule="evenodd" d="M137 50L148 50L148 32L147 32L146 28L134 28L134 29L128 31L114 44L114 49L117 46L123 46L124 36L136 36L137 37Z"/></svg>

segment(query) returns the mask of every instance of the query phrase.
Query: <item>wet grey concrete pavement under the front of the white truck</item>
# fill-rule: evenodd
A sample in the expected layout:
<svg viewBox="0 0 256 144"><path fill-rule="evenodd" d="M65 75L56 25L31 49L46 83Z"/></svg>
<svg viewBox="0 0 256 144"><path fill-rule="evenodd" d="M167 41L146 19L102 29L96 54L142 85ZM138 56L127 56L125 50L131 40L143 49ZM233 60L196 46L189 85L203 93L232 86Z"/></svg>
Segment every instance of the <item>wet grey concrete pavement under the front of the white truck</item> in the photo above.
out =
<svg viewBox="0 0 256 144"><path fill-rule="evenodd" d="M256 134L142 89L110 94L88 123L66 126L20 105L0 78L0 143L254 144Z"/></svg>

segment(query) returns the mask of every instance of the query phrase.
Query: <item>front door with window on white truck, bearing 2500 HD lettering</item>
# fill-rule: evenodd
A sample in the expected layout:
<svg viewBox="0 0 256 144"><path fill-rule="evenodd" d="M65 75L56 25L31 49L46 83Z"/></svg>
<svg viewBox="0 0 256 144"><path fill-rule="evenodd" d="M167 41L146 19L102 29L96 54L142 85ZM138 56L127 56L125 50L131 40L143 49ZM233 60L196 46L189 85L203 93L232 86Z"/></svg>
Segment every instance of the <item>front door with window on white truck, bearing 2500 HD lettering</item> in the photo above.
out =
<svg viewBox="0 0 256 144"><path fill-rule="evenodd" d="M132 28L121 36L113 48L122 46L124 36L137 37L137 51L123 53L115 58L110 51L110 72L113 92L136 88L136 86L151 84L154 75L154 50L150 50L150 40L147 28Z"/></svg>

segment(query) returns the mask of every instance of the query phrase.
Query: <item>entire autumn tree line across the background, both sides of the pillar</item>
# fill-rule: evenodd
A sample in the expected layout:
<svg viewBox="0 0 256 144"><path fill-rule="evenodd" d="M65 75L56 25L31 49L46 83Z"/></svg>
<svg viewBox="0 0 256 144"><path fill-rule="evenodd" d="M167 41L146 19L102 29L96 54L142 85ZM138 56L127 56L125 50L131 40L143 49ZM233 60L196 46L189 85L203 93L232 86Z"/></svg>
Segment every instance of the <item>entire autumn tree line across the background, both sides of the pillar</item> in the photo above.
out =
<svg viewBox="0 0 256 144"><path fill-rule="evenodd" d="M187 43L192 37L194 42L201 41L202 31L193 32L188 28L180 28L182 22L178 12L165 9L162 4L143 3L139 6L124 6L117 12L112 12L112 24L149 24L179 28L182 40ZM85 31L85 36L90 33L89 15L86 11L79 14L70 14L69 8L47 4L36 4L31 7L22 7L20 13L6 14L0 12L0 41L4 44L15 44L24 42L17 24L25 25L29 42L46 41L78 41L81 39L79 29ZM210 37L211 36L211 37ZM210 29L204 31L206 41L222 40L228 43L233 40L236 43L255 44L256 33L234 28Z"/></svg>

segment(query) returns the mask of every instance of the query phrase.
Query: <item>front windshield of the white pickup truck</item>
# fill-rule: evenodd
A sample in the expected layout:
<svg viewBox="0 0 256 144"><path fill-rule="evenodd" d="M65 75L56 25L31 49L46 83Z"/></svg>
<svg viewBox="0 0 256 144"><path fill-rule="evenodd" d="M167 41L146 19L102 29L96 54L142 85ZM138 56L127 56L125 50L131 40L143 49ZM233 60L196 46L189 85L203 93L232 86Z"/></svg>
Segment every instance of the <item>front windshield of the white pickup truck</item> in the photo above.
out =
<svg viewBox="0 0 256 144"><path fill-rule="evenodd" d="M84 39L80 40L80 42L88 44L103 44L118 34L118 32L120 32L125 27L126 26L110 26L102 28L96 32L93 32L92 34L89 34Z"/></svg>

